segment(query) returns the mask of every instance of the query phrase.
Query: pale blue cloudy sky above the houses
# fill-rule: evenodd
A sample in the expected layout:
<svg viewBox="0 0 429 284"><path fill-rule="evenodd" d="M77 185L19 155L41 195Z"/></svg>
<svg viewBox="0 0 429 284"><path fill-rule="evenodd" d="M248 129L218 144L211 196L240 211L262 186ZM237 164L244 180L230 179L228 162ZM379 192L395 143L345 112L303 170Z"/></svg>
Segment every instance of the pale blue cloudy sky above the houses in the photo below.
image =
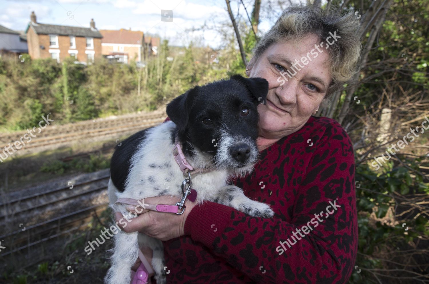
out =
<svg viewBox="0 0 429 284"><path fill-rule="evenodd" d="M231 2L233 12L239 11L247 18L242 6L237 9L238 3L236 0ZM250 13L254 0L244 3ZM17 31L25 30L30 13L34 11L37 21L43 24L89 27L91 18L94 18L98 29L131 28L159 34L172 45L180 46L193 40L217 48L222 41L218 32L211 29L190 32L189 29L200 29L204 23L220 26L230 22L224 0L0 0L0 7L0 24ZM161 21L161 9L172 10L172 22ZM267 12L269 16L261 13L261 31L268 30L276 12L280 14L281 11Z"/></svg>

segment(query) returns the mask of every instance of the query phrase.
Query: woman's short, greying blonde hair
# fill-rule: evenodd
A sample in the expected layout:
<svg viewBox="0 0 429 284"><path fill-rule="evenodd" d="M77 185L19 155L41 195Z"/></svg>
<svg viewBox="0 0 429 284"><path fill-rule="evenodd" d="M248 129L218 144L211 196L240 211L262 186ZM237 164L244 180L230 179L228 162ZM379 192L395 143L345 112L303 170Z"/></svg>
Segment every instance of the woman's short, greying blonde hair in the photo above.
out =
<svg viewBox="0 0 429 284"><path fill-rule="evenodd" d="M339 15L331 11L324 15L320 9L313 9L312 6L290 6L283 11L271 29L257 43L253 50L251 64L254 64L273 43L302 40L309 34L315 34L320 43L326 43L326 38L332 37L334 32L338 39L328 49L323 48L328 54L327 60L332 76L332 82L326 92L326 98L328 98L359 70L362 49L360 21L353 12Z"/></svg>

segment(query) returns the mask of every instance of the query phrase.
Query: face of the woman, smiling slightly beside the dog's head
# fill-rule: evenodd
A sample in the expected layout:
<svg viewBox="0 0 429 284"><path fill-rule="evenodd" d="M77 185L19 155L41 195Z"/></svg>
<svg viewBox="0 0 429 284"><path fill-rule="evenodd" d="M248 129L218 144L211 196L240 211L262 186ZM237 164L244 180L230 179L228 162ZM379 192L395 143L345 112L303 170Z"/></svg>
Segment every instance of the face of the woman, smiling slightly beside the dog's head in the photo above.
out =
<svg viewBox="0 0 429 284"><path fill-rule="evenodd" d="M319 108L332 78L324 64L325 46L317 49L317 43L315 35L299 42L274 43L248 66L250 77L269 83L266 103L258 107L260 136L277 139L291 134ZM290 75L284 73L287 70Z"/></svg>

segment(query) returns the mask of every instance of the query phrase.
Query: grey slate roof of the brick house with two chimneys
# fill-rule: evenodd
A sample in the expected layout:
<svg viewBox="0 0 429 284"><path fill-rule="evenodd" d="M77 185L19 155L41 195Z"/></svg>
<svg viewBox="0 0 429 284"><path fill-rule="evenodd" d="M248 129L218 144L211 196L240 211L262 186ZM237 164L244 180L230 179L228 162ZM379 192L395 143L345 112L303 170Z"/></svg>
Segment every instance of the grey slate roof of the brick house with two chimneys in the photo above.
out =
<svg viewBox="0 0 429 284"><path fill-rule="evenodd" d="M72 27L61 26L58 24L40 24L30 22L25 30L27 34L28 28L32 27L36 34L57 34L60 36L75 36L75 37L96 37L102 38L103 36L97 29L91 27Z"/></svg>

